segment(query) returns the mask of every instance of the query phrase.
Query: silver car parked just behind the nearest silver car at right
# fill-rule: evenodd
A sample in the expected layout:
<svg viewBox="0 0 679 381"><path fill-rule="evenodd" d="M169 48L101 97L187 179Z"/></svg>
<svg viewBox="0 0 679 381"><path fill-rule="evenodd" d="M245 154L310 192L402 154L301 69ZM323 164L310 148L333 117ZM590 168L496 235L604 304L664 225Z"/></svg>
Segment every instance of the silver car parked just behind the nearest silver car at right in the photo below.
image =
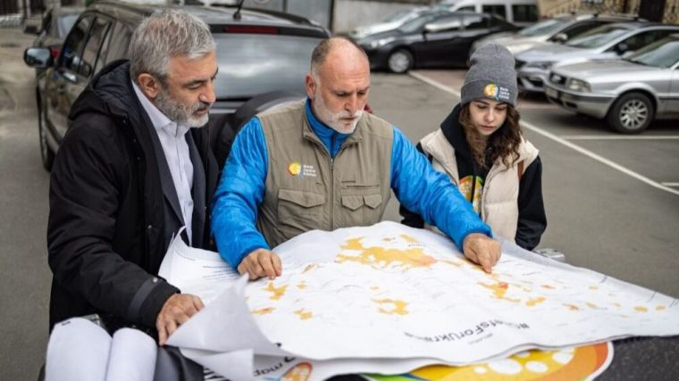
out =
<svg viewBox="0 0 679 381"><path fill-rule="evenodd" d="M555 64L619 58L651 42L679 32L679 26L643 21L616 22L591 29L564 45L537 46L516 54L519 87L544 92L549 70Z"/></svg>

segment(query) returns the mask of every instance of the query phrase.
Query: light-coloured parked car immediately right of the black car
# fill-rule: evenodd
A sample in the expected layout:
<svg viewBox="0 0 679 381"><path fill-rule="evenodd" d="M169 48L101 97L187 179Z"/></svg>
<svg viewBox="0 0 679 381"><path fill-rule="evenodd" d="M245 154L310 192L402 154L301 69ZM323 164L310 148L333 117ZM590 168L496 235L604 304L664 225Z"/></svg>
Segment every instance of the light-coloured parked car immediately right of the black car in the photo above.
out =
<svg viewBox="0 0 679 381"><path fill-rule="evenodd" d="M470 55L479 47L495 43L507 47L512 54L519 54L544 43L564 43L590 29L611 22L638 21L633 16L604 15L597 13L569 13L543 20L518 32L496 33L483 37L472 45Z"/></svg>

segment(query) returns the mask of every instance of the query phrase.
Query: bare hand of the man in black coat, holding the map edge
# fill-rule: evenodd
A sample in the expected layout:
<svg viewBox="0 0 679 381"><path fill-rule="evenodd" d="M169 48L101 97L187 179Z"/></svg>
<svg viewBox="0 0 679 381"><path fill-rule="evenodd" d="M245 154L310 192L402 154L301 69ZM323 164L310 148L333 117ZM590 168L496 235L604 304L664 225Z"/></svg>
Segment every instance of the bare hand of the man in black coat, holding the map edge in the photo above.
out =
<svg viewBox="0 0 679 381"><path fill-rule="evenodd" d="M164 345L167 338L198 311L203 310L203 302L196 295L173 294L165 301L155 319L158 329L158 344Z"/></svg>

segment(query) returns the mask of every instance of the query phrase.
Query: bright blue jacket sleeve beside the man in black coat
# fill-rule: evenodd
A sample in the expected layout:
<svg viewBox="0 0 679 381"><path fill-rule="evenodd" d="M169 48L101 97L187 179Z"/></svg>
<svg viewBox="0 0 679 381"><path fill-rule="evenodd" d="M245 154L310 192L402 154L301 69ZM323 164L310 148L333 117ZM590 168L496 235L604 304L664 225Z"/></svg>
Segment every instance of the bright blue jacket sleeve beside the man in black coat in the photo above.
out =
<svg viewBox="0 0 679 381"><path fill-rule="evenodd" d="M239 131L214 195L212 229L224 261L237 269L253 250L271 250L256 228L264 199L268 156L262 125L253 118Z"/></svg>

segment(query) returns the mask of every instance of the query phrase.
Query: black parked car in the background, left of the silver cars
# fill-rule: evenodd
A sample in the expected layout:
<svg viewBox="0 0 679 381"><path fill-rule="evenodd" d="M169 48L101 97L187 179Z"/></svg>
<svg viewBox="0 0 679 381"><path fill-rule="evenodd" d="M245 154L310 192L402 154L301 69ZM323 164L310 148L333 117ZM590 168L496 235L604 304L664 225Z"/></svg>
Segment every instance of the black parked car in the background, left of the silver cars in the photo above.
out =
<svg viewBox="0 0 679 381"><path fill-rule="evenodd" d="M372 69L403 73L415 67L464 66L478 38L517 27L497 16L477 12L426 14L398 29L359 38Z"/></svg>

